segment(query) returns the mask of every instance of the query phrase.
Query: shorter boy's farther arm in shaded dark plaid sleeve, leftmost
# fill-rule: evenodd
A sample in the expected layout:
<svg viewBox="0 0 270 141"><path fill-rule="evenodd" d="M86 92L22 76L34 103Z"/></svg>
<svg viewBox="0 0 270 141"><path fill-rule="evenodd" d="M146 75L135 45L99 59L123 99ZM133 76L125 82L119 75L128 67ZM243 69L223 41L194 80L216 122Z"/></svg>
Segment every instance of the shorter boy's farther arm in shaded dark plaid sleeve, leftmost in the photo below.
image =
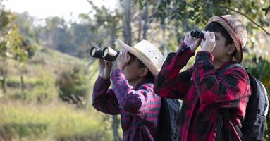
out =
<svg viewBox="0 0 270 141"><path fill-rule="evenodd" d="M113 90L109 89L110 85L110 80L102 80L100 77L97 78L92 94L92 105L98 111L102 111L106 114L120 114L116 96Z"/></svg>

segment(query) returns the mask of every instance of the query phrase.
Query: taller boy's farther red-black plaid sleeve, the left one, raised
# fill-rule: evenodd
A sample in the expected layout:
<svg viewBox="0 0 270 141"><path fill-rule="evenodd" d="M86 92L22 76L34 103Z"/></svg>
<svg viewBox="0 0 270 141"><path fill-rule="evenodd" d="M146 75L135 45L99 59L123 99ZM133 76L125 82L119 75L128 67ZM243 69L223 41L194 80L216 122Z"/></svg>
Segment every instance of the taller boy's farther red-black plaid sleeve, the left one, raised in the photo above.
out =
<svg viewBox="0 0 270 141"><path fill-rule="evenodd" d="M194 53L187 47L185 42L181 44L176 53L168 54L161 71L154 82L154 92L171 99L183 99L190 85L193 68L181 73L180 70L188 63Z"/></svg>

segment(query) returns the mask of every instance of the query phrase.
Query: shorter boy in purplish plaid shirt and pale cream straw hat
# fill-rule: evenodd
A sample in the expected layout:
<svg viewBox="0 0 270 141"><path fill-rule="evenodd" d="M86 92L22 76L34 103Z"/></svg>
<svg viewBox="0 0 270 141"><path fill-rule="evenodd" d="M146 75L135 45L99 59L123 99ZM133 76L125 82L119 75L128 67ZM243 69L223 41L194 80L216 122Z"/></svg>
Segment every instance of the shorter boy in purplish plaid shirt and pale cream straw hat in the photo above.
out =
<svg viewBox="0 0 270 141"><path fill-rule="evenodd" d="M111 73L113 88L109 89L112 63L100 59L92 105L106 114L121 114L123 140L155 140L161 97L153 92L154 77L164 56L146 40L134 47L120 40L116 45L124 51L114 62L116 67Z"/></svg>

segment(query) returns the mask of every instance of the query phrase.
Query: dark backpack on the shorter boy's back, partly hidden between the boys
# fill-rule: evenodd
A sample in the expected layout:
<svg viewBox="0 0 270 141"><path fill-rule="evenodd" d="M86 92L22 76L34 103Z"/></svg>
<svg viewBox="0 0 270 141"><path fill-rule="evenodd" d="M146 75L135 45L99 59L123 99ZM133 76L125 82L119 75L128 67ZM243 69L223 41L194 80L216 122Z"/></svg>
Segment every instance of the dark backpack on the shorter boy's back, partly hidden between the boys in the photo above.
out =
<svg viewBox="0 0 270 141"><path fill-rule="evenodd" d="M176 141L179 139L180 106L177 99L161 98L158 141Z"/></svg>

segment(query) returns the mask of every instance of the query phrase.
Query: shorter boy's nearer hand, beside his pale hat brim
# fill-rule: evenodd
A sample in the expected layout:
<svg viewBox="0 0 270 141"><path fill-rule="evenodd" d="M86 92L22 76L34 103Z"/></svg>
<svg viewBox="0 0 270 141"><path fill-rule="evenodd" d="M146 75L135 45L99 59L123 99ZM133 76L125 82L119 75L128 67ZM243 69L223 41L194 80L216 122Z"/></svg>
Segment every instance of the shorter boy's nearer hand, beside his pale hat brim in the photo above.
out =
<svg viewBox="0 0 270 141"><path fill-rule="evenodd" d="M123 70L123 68L127 66L129 61L130 56L128 55L128 53L121 51L120 54L117 56L116 61L114 62L116 65L116 69Z"/></svg>

